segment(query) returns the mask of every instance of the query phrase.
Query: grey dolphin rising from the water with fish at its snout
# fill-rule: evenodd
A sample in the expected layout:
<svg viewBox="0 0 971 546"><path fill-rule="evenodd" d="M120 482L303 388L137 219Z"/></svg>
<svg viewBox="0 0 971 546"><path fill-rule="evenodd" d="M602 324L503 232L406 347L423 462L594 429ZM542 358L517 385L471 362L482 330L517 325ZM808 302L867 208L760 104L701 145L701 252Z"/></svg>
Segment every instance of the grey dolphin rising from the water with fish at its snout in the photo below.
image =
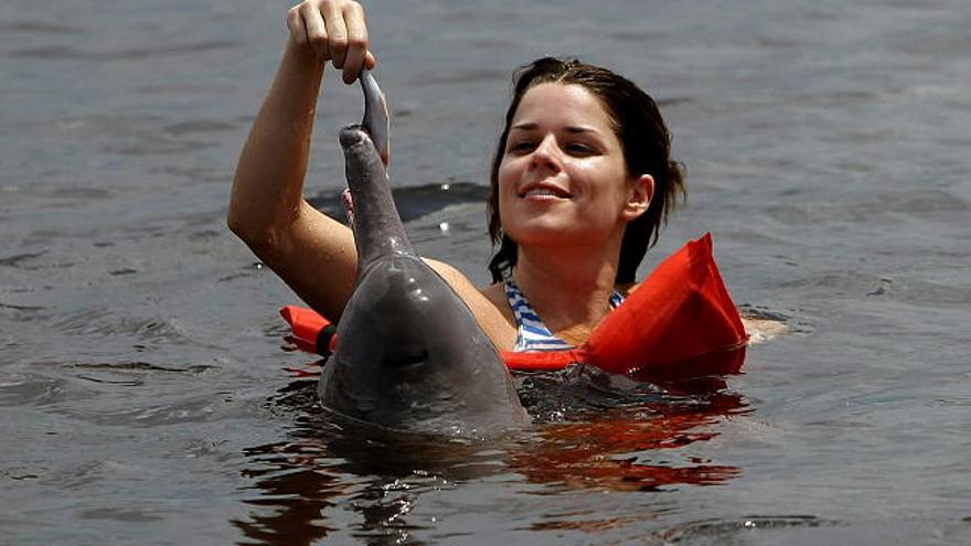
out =
<svg viewBox="0 0 971 546"><path fill-rule="evenodd" d="M364 121L341 131L358 281L323 366L320 400L395 430L487 437L523 427L529 415L502 357L405 235L382 161L384 99L373 76L365 72L361 82Z"/></svg>

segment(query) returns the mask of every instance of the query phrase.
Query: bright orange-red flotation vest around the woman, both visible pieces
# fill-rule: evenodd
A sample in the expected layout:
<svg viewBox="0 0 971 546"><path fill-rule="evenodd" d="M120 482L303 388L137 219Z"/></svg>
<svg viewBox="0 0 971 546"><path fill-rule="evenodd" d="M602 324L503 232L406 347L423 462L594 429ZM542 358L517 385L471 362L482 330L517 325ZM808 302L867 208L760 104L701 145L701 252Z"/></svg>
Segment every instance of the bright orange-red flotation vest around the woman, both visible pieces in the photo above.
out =
<svg viewBox="0 0 971 546"><path fill-rule="evenodd" d="M295 306L280 310L298 347L328 355L333 324ZM510 370L561 370L591 364L639 378L738 373L748 336L718 272L712 236L692 240L662 261L583 345L565 351L502 351Z"/></svg>

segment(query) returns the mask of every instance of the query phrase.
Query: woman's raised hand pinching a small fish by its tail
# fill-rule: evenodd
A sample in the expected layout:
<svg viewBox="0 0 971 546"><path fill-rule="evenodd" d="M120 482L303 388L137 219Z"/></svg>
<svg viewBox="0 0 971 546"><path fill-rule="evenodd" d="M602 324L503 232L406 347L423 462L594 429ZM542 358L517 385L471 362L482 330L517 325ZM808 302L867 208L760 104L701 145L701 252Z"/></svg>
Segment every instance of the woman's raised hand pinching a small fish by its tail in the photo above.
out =
<svg viewBox="0 0 971 546"><path fill-rule="evenodd" d="M353 83L362 67L376 64L367 51L364 8L353 0L303 0L287 12L287 26L295 43L343 71L344 83Z"/></svg>

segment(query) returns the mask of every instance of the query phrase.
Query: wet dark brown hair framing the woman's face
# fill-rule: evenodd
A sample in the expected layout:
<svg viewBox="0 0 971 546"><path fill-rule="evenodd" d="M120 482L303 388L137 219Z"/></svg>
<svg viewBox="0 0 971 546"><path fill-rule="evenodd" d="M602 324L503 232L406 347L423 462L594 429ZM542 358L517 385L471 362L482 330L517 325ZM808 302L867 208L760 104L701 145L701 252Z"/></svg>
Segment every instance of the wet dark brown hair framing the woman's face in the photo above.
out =
<svg viewBox="0 0 971 546"><path fill-rule="evenodd" d="M650 174L654 179L651 204L647 212L627 225L620 244L615 282L633 282L644 254L658 242L658 232L668 221L669 211L674 208L679 195L685 195L681 164L670 157L671 136L654 99L632 82L576 58L555 57L543 57L521 66L513 75L513 96L505 113L505 127L499 137L490 174L489 235L493 245L500 245L489 264L492 281L500 282L508 278L519 256L516 243L502 233L499 217L499 167L505 154L510 126L526 92L546 83L579 85L599 98L623 149L628 174Z"/></svg>

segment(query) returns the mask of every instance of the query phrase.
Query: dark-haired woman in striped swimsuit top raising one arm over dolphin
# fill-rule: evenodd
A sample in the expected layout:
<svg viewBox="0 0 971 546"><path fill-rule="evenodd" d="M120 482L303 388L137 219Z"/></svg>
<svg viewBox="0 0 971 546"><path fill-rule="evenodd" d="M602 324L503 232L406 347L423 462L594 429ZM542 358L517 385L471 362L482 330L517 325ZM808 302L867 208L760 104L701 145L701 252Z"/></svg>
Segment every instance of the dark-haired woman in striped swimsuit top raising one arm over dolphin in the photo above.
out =
<svg viewBox="0 0 971 546"><path fill-rule="evenodd" d="M352 83L375 58L352 0L305 0L287 23L290 39L239 158L228 224L337 320L354 287L353 236L303 201L303 175L324 65ZM497 283L479 289L428 263L500 350L578 345L637 288L634 271L684 191L669 150L657 106L637 86L575 61L540 60L517 75L492 168Z"/></svg>

